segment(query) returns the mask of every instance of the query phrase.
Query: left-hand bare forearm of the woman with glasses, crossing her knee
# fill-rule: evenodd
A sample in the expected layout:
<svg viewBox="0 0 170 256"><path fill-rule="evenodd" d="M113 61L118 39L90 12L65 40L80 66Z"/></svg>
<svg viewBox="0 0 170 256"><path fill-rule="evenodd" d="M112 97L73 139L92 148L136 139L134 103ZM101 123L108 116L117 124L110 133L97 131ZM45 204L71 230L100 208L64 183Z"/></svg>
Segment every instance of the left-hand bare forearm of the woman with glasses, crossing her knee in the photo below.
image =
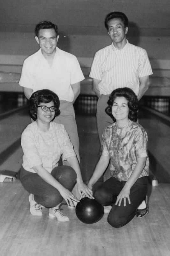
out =
<svg viewBox="0 0 170 256"><path fill-rule="evenodd" d="M56 188L61 196L65 199L66 203L73 206L72 200L79 202L76 196L74 196L67 188L64 188L55 178L45 169L42 165L33 166L33 170L48 184Z"/></svg>

